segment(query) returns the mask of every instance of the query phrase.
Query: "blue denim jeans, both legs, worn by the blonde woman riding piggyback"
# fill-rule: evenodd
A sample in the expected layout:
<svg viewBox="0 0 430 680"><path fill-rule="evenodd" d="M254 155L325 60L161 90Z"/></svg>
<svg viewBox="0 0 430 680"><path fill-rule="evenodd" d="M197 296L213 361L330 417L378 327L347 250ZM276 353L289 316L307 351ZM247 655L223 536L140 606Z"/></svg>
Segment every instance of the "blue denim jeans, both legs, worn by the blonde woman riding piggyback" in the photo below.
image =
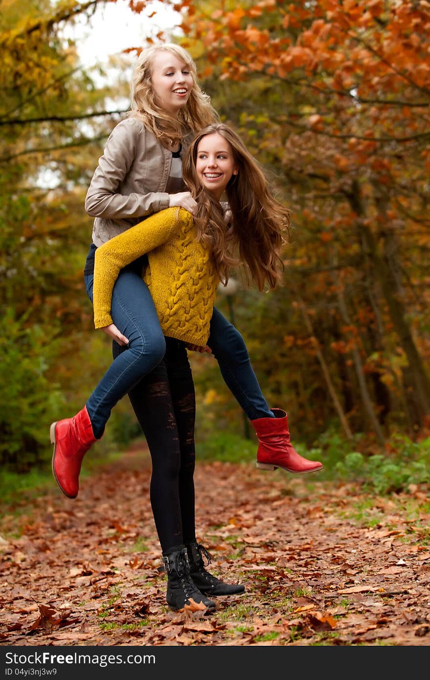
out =
<svg viewBox="0 0 430 680"><path fill-rule="evenodd" d="M92 301L94 276L87 274L84 278ZM166 351L154 302L138 273L126 269L120 273L113 288L111 317L115 326L128 338L128 347L125 352L114 348L113 362L86 403L96 438L101 437L115 404L160 363ZM273 418L255 377L243 337L216 308L211 319L208 345L226 385L249 420Z"/></svg>

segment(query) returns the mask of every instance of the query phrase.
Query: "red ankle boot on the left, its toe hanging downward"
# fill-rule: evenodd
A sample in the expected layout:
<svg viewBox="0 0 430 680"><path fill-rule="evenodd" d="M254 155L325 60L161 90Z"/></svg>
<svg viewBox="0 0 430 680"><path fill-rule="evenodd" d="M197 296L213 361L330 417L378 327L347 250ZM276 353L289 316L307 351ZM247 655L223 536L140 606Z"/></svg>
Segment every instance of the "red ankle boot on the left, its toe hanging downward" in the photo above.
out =
<svg viewBox="0 0 430 680"><path fill-rule="evenodd" d="M52 473L55 481L68 498L76 498L79 491L79 472L82 459L90 446L97 441L86 406L73 418L58 420L50 427Z"/></svg>

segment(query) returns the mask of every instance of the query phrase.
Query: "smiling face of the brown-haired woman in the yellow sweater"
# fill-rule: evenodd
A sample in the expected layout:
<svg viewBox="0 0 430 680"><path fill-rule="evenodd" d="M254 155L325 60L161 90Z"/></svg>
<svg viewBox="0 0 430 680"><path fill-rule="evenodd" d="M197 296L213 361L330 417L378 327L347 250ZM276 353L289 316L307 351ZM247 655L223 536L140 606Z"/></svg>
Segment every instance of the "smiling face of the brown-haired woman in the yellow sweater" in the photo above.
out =
<svg viewBox="0 0 430 680"><path fill-rule="evenodd" d="M219 201L232 175L237 175L230 142L217 132L202 137L197 146L196 172L204 188Z"/></svg>

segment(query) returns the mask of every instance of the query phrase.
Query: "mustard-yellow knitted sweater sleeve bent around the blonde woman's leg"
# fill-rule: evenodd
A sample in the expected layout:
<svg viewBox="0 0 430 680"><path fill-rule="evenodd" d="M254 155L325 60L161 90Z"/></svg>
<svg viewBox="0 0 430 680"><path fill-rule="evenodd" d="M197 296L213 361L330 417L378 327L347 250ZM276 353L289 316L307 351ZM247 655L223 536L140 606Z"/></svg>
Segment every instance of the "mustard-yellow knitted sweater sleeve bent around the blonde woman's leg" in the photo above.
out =
<svg viewBox="0 0 430 680"><path fill-rule="evenodd" d="M168 208L151 215L124 233L109 239L96 249L94 258L93 306L94 326L103 328L113 323L111 302L113 286L123 267L141 255L166 243L179 220L192 219L186 210Z"/></svg>

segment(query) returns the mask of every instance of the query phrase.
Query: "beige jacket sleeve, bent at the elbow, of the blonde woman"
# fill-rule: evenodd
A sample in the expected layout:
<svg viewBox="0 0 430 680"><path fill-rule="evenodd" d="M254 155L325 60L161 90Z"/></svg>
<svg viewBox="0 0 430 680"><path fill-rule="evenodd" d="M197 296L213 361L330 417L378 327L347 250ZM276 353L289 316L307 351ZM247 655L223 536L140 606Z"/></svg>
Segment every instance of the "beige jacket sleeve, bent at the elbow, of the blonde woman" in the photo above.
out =
<svg viewBox="0 0 430 680"><path fill-rule="evenodd" d="M91 217L144 217L168 207L165 192L118 193L118 186L135 160L139 137L144 134L138 120L126 118L109 135L86 194L85 209Z"/></svg>

